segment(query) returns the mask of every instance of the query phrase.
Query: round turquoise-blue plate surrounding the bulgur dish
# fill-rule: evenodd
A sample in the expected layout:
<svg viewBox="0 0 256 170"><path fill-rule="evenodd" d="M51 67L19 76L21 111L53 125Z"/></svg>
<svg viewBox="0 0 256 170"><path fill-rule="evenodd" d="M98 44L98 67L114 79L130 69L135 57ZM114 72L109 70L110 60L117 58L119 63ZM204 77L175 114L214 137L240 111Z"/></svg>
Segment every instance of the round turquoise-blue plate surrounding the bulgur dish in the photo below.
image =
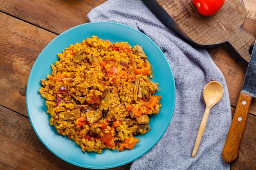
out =
<svg viewBox="0 0 256 170"><path fill-rule="evenodd" d="M131 46L143 47L152 65L153 82L159 83L156 95L161 95L162 108L158 115L150 117L151 130L139 135L140 141L132 150L108 150L101 154L82 152L81 148L67 137L59 135L49 124L50 115L46 113L45 99L40 96L40 79L51 74L51 63L58 60L61 53L70 44L82 42L92 35L110 42L128 42ZM164 134L171 121L175 105L175 82L171 68L157 45L143 33L114 22L92 22L82 24L58 35L50 42L36 59L27 82L27 110L31 124L43 144L61 159L76 166L104 169L122 166L144 155Z"/></svg>

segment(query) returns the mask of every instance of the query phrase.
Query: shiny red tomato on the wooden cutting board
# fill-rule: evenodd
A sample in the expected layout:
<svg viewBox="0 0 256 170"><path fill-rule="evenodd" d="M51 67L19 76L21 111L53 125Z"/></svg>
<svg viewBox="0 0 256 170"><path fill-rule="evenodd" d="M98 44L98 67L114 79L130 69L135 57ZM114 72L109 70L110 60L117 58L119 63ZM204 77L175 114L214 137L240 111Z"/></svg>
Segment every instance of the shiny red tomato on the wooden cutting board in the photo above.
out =
<svg viewBox="0 0 256 170"><path fill-rule="evenodd" d="M220 10L225 0L193 0L198 12L202 15L213 15Z"/></svg>

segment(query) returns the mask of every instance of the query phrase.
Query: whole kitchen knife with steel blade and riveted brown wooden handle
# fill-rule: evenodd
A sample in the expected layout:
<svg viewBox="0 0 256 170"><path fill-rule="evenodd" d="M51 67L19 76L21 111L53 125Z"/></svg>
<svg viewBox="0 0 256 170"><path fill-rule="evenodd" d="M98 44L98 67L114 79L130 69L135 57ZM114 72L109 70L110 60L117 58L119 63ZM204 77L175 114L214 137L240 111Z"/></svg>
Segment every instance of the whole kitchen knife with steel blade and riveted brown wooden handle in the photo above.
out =
<svg viewBox="0 0 256 170"><path fill-rule="evenodd" d="M256 97L256 41L254 43L236 110L222 151L222 159L225 163L234 162L239 157L240 144L245 131L253 97Z"/></svg>

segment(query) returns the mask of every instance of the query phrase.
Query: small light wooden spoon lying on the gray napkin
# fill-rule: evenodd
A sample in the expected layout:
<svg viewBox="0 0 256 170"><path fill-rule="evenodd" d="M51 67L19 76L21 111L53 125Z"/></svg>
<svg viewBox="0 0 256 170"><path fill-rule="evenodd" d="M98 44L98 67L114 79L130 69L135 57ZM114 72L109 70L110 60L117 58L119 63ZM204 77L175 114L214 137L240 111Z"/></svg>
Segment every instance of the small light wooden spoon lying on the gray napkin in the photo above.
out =
<svg viewBox="0 0 256 170"><path fill-rule="evenodd" d="M196 141L195 141L195 146L194 146L194 150L192 152L192 157L195 157L197 151L198 151L198 147L200 144L200 141L202 139L202 135L204 133L204 129L206 126L206 122L209 116L209 112L210 109L212 108L212 106L214 106L215 104L217 104L220 99L222 98L223 95L223 87L219 82L216 81L212 81L209 82L205 87L204 87L204 102L206 104L206 108L204 111L204 115L198 130L198 136L196 137Z"/></svg>

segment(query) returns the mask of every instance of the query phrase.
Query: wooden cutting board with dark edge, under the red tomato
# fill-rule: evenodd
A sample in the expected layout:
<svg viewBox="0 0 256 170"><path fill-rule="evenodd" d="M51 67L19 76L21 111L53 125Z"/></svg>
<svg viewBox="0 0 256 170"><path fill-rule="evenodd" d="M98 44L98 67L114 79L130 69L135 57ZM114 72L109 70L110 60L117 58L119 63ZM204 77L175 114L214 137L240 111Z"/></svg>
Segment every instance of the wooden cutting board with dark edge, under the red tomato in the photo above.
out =
<svg viewBox="0 0 256 170"><path fill-rule="evenodd" d="M246 17L242 0L225 0L211 16L201 15L193 0L142 0L177 34L203 48L228 43L242 62L248 64L255 38L241 29Z"/></svg>

